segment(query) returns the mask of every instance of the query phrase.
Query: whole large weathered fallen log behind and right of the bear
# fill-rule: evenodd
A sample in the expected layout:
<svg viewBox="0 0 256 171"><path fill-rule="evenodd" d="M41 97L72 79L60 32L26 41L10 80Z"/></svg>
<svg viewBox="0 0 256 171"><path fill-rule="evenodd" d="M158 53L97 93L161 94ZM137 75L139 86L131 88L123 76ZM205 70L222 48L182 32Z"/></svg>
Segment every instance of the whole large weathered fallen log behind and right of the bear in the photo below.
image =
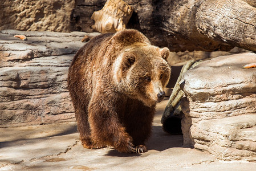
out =
<svg viewBox="0 0 256 171"><path fill-rule="evenodd" d="M256 1L127 1L137 13L137 28L171 51L256 51ZM255 7L253 7L255 6ZM135 15L131 27L134 27Z"/></svg>

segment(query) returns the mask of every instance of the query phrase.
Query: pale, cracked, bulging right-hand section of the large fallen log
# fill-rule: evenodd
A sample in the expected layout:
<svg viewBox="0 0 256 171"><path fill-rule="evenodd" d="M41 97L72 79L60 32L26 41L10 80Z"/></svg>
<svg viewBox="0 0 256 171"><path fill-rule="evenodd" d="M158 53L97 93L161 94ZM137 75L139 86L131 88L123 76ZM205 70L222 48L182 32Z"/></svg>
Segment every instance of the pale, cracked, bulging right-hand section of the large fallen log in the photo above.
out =
<svg viewBox="0 0 256 171"><path fill-rule="evenodd" d="M210 39L256 51L256 9L246 2L206 1L197 11L196 27Z"/></svg>

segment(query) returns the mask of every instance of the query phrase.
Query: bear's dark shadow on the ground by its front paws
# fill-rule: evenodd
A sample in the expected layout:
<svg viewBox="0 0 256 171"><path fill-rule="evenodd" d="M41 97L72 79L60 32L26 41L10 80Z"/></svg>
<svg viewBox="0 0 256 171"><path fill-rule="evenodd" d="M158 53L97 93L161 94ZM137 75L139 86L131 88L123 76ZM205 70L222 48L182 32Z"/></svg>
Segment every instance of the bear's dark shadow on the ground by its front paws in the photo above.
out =
<svg viewBox="0 0 256 171"><path fill-rule="evenodd" d="M162 130L161 126L152 127L152 136L146 143L148 150L157 150L159 152L173 148L182 147L183 137L182 135L170 135ZM132 157L140 156L141 154L129 154L129 153L119 153L117 150L109 150L105 156L117 156L117 157Z"/></svg>

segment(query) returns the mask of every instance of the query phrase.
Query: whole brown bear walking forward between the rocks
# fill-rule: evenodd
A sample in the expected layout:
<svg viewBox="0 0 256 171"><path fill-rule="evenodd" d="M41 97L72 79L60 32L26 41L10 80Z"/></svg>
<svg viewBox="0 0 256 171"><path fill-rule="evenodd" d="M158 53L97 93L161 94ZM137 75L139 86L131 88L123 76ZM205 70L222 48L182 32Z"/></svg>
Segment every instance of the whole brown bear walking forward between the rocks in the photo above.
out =
<svg viewBox="0 0 256 171"><path fill-rule="evenodd" d="M137 30L101 34L80 48L68 90L85 148L147 152L155 106L170 77L168 55Z"/></svg>

